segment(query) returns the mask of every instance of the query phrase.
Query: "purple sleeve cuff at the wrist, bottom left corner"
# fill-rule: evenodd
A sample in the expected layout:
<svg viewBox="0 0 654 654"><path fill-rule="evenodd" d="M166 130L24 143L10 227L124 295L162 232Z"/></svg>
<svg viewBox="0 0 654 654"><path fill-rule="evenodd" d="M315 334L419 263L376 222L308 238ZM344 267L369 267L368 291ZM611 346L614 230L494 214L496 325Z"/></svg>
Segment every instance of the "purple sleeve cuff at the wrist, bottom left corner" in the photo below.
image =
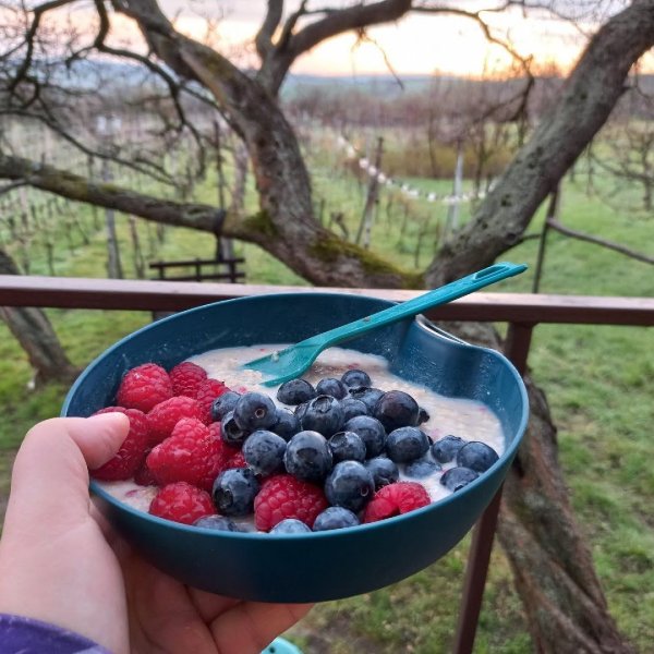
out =
<svg viewBox="0 0 654 654"><path fill-rule="evenodd" d="M0 614L0 654L111 654L97 643L61 627Z"/></svg>

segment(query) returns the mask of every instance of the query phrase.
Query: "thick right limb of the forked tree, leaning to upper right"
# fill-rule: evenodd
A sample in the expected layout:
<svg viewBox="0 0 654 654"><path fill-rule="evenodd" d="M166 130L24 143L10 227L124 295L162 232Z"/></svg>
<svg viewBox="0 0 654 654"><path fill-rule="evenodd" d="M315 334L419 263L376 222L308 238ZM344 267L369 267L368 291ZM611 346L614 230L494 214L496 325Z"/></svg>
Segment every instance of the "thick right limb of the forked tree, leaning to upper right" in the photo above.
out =
<svg viewBox="0 0 654 654"><path fill-rule="evenodd" d="M631 66L654 44L654 2L635 0L592 38L556 106L474 218L438 250L429 287L491 265L520 239L536 209L608 119Z"/></svg>

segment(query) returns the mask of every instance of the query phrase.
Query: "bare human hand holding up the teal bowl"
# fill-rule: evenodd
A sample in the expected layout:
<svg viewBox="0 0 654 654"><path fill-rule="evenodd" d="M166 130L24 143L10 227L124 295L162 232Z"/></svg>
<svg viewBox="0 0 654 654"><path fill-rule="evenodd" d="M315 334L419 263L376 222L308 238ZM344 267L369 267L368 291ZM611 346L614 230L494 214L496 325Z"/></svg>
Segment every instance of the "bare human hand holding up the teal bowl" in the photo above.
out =
<svg viewBox="0 0 654 654"><path fill-rule="evenodd" d="M308 605L241 602L185 586L118 538L88 495L129 419L52 419L26 435L0 541L0 613L81 633L117 654L256 654Z"/></svg>

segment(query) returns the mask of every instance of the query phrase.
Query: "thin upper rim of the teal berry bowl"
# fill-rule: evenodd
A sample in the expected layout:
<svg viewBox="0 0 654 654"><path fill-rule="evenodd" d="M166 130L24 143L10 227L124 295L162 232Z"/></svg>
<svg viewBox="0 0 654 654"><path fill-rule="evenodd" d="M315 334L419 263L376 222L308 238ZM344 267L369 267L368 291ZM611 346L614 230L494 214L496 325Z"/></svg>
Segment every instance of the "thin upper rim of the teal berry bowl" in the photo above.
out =
<svg viewBox="0 0 654 654"><path fill-rule="evenodd" d="M86 365L84 371L75 379L75 382L73 383L73 385L71 386L70 390L68 391L68 393L64 398L60 415L61 416L69 415L68 409L70 407L71 400L72 400L73 396L75 395L77 388L80 386L82 386L82 384L84 384L84 380L88 376L90 371L100 361L102 361L105 358L109 356L116 350L120 349L125 342L128 342L135 336L141 335L143 332L147 332L152 329L155 329L157 326L159 326L164 323L179 319L179 317L182 315L186 316L186 315L192 315L194 313L205 312L205 311L210 310L211 307L216 307L218 305L225 306L225 305L229 305L232 303L251 302L251 301L253 301L253 300L255 301L257 299L268 299L268 298L290 299L290 298L298 298L298 296L312 298L312 299L329 298L329 296L338 296L338 298L354 296L354 298L361 298L364 300L371 300L371 301L386 303L389 306L393 305L393 304L398 304L398 302L395 302L391 300L384 300L382 298L375 298L372 295L365 295L365 294L356 293L356 292L348 293L348 292L341 292L341 291L338 291L338 292L320 291L320 292L308 293L308 292L298 291L298 292L281 292L281 293L258 293L256 295L247 295L247 296L234 298L234 299L229 299L229 300L220 300L217 302L210 302L208 304L202 304L198 306L194 306L192 308L187 308L185 311L178 312L170 316L160 318L148 325L144 325L143 327L140 327L138 329L128 334L126 336L124 336L123 338L121 338L120 340L114 342L112 346L109 346L109 348L105 349L100 354L98 354L95 359L93 359ZM508 371L514 377L521 399L522 399L522 404L524 407L524 409L522 411L522 415L520 417L520 424L518 425L518 428L516 429L516 436L508 444L508 446L506 447L504 452L499 456L498 460L491 468L488 468L488 470L485 472L493 471L495 468L497 468L499 465L504 465L504 464L510 465L510 462L513 460L513 457L516 456L518 448L520 447L520 445L522 443L522 438L524 436L524 432L526 429L526 424L529 421L529 397L526 393L526 388L524 386L522 376L520 375L520 373L518 372L516 366L509 361L509 359L507 356L505 356L501 352L494 350L492 348L486 348L484 346L475 346L475 344L468 343L457 337L450 336L446 330L443 330L440 328L438 328L437 331L432 330L428 327L426 327L424 324L421 323L421 320L419 319L421 315L422 314L419 314L417 316L415 316L413 318L413 320L419 325L419 327L421 327L425 331L428 331L434 338L447 340L451 344L451 347L455 347L455 348L482 350L482 351L488 353L491 356L502 361L502 363L508 367ZM125 502L117 499L110 493L108 493L107 491L101 488L98 484L98 481L94 480L93 477L89 479L89 488L95 495L97 495L99 498L101 498L105 501L107 501L108 504L110 504L116 509L118 509L120 511L126 511L129 514L131 514L132 517L134 517L136 519L145 520L146 522L153 522L161 528L172 529L173 531L180 531L180 532L186 533L186 534L195 534L195 535L202 534L205 536L211 536L211 537L218 537L218 538L223 538L223 537L234 538L234 540L245 538L246 541L254 540L254 541L266 542L266 541L269 541L270 538L275 538L277 541L296 541L296 540L302 540L302 538L312 538L312 540L335 538L335 537L340 537L342 535L351 534L353 532L359 533L359 534L364 533L364 531L374 532L375 530L380 530L380 529L385 529L385 528L389 526L389 523L393 524L393 525L395 524L399 525L405 520L411 520L420 514L424 514L429 511L434 511L437 508L447 506L453 501L459 501L459 498L462 498L465 495L473 493L480 484L483 484L485 482L484 477L485 477L485 474L482 473L475 480L473 480L472 482L467 484L460 491L451 493L450 495L447 495L445 497L441 497L440 499L429 502L425 507L421 507L420 509L414 509L413 511L409 511L407 513L393 516L391 518L386 518L385 520L378 520L376 522L361 523L361 524L358 524L354 526L346 526L346 528L341 528L341 529L327 530L327 531L322 531L322 532L314 532L314 531L303 532L303 533L299 533L299 534L277 534L277 533L270 534L268 532L240 532L240 531L239 532L229 532L229 531L221 531L221 530L211 530L211 529L202 528L202 526L194 526L192 524L184 524L181 522L174 522L172 520L166 520L164 518L153 516L152 513L148 513L146 511L135 509L135 508L126 505Z"/></svg>

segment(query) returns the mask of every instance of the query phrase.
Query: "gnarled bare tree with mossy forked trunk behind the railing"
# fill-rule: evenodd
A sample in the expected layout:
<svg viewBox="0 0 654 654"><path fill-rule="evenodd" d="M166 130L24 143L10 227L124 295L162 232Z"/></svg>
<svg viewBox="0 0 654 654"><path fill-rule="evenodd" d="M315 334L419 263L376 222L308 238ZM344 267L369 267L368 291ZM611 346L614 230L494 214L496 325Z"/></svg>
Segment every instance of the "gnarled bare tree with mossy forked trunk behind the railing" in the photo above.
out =
<svg viewBox="0 0 654 654"><path fill-rule="evenodd" d="M497 41L483 20L484 12L467 10L465 2L439 5L377 0L313 9L308 0L303 0L295 11L284 13L282 0L269 0L255 39L258 65L249 69L239 68L216 48L181 34L156 0L113 0L111 4L95 0L96 34L89 39L71 33L66 47L58 50L65 51L64 57L49 52L51 35L41 23L44 16L76 1L50 0L28 12L17 0L10 3L15 8L16 21L2 28L10 44L0 59L2 111L36 117L85 155L101 158L102 153L93 143L83 143L76 136L75 124L66 120L75 116L71 108L80 101L78 92L58 84L56 71L60 65L86 64L94 52L141 64L156 77L150 104L161 108L160 124L167 132L190 132L201 144L202 134L187 119L189 106L194 106L218 111L247 149L259 209L250 216L228 213L222 234L256 243L316 284L342 287L438 286L491 264L512 247L538 206L606 122L629 84L632 65L654 45L654 0L626 2L623 10L605 16L557 102L542 117L472 220L449 234L425 271L404 271L346 242L316 220L308 171L295 133L278 102L279 89L291 64L319 43L349 31L365 34L368 27L401 20L411 11L468 17ZM544 4L554 9L559 5ZM564 8L578 4L604 5L560 3ZM502 8L512 5L526 10L522 0L502 3ZM138 25L148 46L147 55L110 45L110 12L124 14ZM175 129L169 130L173 124ZM170 181L167 171L152 160L124 153L120 158L132 170ZM94 184L82 173L7 149L0 153L0 177L161 223L208 232L216 227L216 209L211 206ZM532 402L535 415L547 416L546 404L535 390ZM533 431L511 473L506 498L509 531L502 543L519 580L534 642L542 652L630 652L608 615L592 557L566 508L552 436L552 429ZM529 538L510 537L524 532ZM569 545L573 545L576 556L570 556ZM547 591L552 591L546 596L546 611L542 610L543 579L547 579Z"/></svg>

